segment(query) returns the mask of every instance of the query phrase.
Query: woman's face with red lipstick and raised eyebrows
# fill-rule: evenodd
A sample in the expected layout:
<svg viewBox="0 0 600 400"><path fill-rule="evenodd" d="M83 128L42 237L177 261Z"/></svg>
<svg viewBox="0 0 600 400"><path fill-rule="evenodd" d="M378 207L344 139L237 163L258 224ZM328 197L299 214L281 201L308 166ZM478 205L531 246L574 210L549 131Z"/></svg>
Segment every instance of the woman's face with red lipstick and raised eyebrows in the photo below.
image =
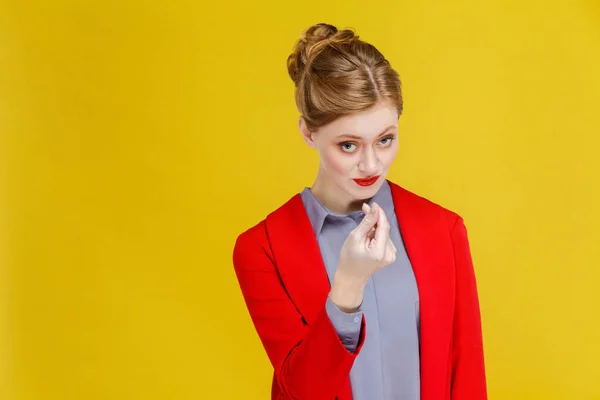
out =
<svg viewBox="0 0 600 400"><path fill-rule="evenodd" d="M313 132L301 119L300 130L321 159L315 186L345 203L373 197L398 152L398 112L388 102L340 117Z"/></svg>

